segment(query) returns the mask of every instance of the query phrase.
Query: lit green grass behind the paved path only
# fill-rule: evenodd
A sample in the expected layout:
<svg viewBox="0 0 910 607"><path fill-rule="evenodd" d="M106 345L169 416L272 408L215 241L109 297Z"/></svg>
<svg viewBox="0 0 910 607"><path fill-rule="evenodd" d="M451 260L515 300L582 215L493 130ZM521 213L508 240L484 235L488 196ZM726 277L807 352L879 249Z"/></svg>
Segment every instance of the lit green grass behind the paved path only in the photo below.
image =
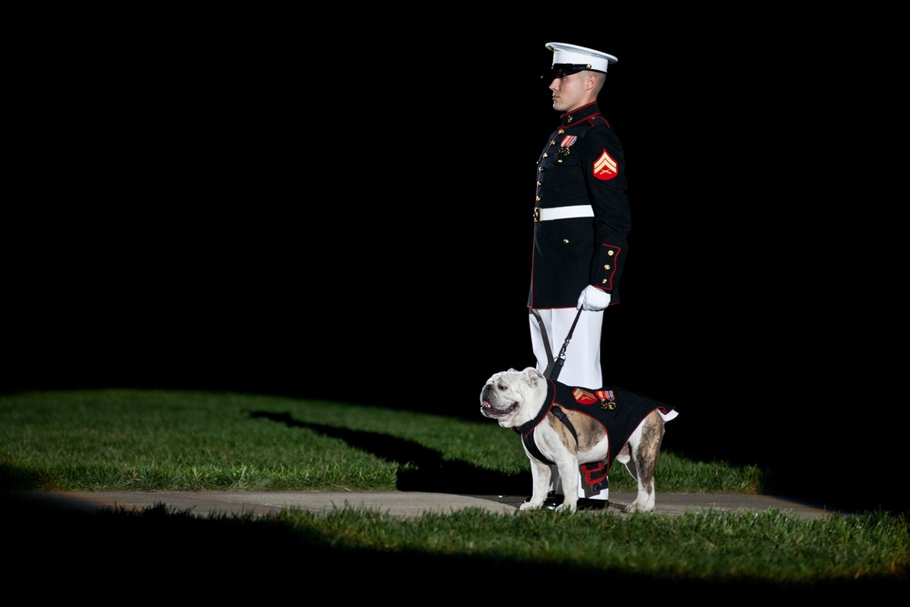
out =
<svg viewBox="0 0 910 607"><path fill-rule="evenodd" d="M521 440L480 412L466 421L229 393L32 392L0 397L0 448L5 484L18 489L390 491L431 471L491 479L479 487L490 492L502 492L497 476L531 490ZM756 467L669 451L658 476L668 492L759 493L763 481ZM610 481L634 491L622 466Z"/></svg>

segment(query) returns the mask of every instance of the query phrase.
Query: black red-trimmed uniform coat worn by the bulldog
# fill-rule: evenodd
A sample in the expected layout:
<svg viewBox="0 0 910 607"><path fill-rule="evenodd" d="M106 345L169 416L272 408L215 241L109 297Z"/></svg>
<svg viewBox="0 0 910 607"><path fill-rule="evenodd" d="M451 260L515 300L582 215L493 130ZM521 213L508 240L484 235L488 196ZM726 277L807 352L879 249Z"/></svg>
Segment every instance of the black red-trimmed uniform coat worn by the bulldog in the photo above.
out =
<svg viewBox="0 0 910 607"><path fill-rule="evenodd" d="M597 390L573 388L559 381L547 379L547 396L543 406L533 420L513 426L521 435L521 441L528 451L538 460L554 465L556 462L541 453L534 440L534 430L541 424L548 413L565 424L578 444L578 434L571 420L562 409L579 411L600 423L607 433L609 453L605 461L591 461L579 466L584 474L584 480L591 487L591 491L602 491L609 487L608 473L610 465L625 446L632 432L638 428L644 418L653 410L657 410L664 420L672 420L677 412L668 408L661 402L653 400L639 392L629 389L602 388Z"/></svg>

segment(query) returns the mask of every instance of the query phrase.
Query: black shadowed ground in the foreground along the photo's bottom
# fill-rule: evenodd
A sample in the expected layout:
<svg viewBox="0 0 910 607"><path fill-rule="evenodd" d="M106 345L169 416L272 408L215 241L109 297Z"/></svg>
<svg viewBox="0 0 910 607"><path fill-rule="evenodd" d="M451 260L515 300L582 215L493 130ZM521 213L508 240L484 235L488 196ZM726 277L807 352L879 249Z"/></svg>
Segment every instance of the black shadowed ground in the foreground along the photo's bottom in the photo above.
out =
<svg viewBox="0 0 910 607"><path fill-rule="evenodd" d="M689 579L672 571L640 573L571 563L431 549L383 551L357 546L317 526L252 515L201 518L169 511L80 511L28 494L0 492L5 582L0 596L45 600L73 596L179 596L185 601L313 602L362 598L416 602L493 599L563 601L570 581L612 601L688 599L698 605L868 601L905 592L905 579L775 583ZM901 594L895 594L900 596Z"/></svg>

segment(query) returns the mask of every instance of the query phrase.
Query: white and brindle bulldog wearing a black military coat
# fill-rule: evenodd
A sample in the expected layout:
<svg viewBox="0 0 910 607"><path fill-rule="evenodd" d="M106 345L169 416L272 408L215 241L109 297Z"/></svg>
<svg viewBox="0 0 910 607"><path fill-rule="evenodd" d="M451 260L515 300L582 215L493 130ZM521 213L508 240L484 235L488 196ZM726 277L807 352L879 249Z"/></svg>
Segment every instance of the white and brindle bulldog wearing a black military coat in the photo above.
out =
<svg viewBox="0 0 910 607"><path fill-rule="evenodd" d="M605 486L613 460L638 482L635 501L624 511L654 510L654 468L664 423L677 415L672 408L632 390L573 388L528 367L487 379L480 413L521 435L533 494L520 510L541 508L556 466L565 494L556 511L576 511L578 470L596 491Z"/></svg>

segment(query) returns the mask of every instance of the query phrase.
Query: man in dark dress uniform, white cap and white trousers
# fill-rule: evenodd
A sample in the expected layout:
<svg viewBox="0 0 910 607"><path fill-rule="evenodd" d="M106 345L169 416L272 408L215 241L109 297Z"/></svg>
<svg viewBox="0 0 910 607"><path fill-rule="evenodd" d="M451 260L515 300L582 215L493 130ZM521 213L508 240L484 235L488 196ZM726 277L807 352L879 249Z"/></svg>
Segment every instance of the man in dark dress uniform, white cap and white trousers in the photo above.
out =
<svg viewBox="0 0 910 607"><path fill-rule="evenodd" d="M558 42L546 46L553 51L550 75L544 76L550 78L551 88L557 78L580 72L606 74L607 67L617 61L615 56L583 46ZM619 281L632 214L622 145L602 115L596 96L561 114L560 126L538 158L536 177L528 308L541 316L552 353L561 350L578 316L559 380L597 389L603 385L602 312L620 302ZM580 315L579 309L583 310ZM543 331L533 314L528 318L537 368L543 372L549 363ZM558 475L554 478L551 493L559 494ZM608 489L592 492L583 479L579 487L580 508L606 504ZM546 505L555 508L561 498L556 495L553 500Z"/></svg>

